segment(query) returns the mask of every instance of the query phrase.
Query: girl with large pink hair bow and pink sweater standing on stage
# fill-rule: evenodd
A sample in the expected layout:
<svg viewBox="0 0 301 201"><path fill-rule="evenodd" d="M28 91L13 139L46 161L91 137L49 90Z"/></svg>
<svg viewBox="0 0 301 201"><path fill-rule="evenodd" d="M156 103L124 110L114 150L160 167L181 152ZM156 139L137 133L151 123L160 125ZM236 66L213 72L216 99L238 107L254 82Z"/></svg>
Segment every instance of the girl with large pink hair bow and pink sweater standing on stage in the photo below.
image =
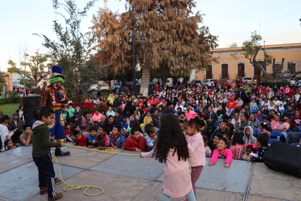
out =
<svg viewBox="0 0 301 201"><path fill-rule="evenodd" d="M186 113L186 117L187 119L184 124L185 132L187 134L186 140L190 142L192 148L194 148L194 154L192 157L188 158L188 162L191 165L191 183L194 190L194 196L196 196L195 183L206 164L205 146L203 137L197 130L198 125L201 125L201 120L197 117L197 113L190 110ZM187 199L184 198L183 200L185 201Z"/></svg>

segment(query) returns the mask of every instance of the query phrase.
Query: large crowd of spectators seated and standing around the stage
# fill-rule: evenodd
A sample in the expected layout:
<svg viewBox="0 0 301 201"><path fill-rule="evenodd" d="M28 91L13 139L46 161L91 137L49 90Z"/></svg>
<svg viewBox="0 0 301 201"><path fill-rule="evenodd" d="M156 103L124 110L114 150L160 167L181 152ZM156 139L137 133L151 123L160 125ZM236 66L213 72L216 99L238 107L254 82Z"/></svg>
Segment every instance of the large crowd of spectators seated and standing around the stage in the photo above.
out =
<svg viewBox="0 0 301 201"><path fill-rule="evenodd" d="M158 83L148 94L136 96L129 90L120 90L108 97L88 96L84 102L96 106L94 113L83 112L74 103L64 106L66 139L73 145L99 150L113 147L151 151L163 115L176 115L185 134L186 113L193 110L201 120L198 130L207 157L222 138L233 159L262 161L262 149L268 148L270 139L288 143L288 132L299 131L301 88L294 81L265 86L262 82L243 83L237 78L233 83L229 88L221 88L218 82L204 86L191 81L164 88ZM24 123L22 105L11 120L3 115L1 121L1 151L31 143L32 131ZM83 134L84 130L88 135ZM274 136L273 131L281 134Z"/></svg>

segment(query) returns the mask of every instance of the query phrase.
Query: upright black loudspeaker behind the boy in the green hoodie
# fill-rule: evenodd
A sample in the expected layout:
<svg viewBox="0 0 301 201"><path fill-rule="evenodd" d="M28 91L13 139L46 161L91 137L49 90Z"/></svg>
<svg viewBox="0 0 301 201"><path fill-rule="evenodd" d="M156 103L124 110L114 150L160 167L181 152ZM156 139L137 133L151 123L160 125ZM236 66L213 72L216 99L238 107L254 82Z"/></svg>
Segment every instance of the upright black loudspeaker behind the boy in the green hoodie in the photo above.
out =
<svg viewBox="0 0 301 201"><path fill-rule="evenodd" d="M39 107L40 95L23 96L23 110L25 123L30 124L35 120L33 116L33 109Z"/></svg>

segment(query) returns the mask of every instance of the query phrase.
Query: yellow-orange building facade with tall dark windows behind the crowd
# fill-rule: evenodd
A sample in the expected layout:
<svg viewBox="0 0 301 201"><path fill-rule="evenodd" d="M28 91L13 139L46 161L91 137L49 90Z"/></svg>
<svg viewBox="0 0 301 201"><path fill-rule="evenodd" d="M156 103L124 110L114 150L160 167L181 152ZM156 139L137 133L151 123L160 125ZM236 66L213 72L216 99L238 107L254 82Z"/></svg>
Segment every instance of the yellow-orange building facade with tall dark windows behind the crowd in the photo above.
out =
<svg viewBox="0 0 301 201"><path fill-rule="evenodd" d="M260 71L250 64L250 60L246 59L244 55L237 54L237 58L231 56L240 49L241 47L231 47L211 50L213 57L217 57L219 63L212 63L204 71L194 71L191 78L194 77L195 80L226 80L237 77L255 77L257 80L264 80L263 76L260 76ZM301 43L266 45L265 51L275 58L275 64L281 64L282 58L285 59L283 70L287 70L287 63L290 63L292 73L301 71ZM263 65L264 53L262 50L259 51L256 60ZM267 66L267 72L272 72L272 65ZM296 76L300 76L300 74Z"/></svg>

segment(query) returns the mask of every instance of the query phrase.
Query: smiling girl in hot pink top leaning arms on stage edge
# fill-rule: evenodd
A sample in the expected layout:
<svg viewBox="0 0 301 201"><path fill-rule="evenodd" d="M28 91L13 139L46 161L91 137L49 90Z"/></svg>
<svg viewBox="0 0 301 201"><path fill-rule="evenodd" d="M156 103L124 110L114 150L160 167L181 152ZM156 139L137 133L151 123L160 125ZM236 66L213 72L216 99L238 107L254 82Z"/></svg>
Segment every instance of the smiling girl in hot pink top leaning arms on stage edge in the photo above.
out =
<svg viewBox="0 0 301 201"><path fill-rule="evenodd" d="M215 149L212 153L211 160L208 166L213 166L216 164L217 158L225 158L225 168L230 168L230 164L232 161L232 152L230 149L227 149L227 141L224 138L219 138L217 142L217 149Z"/></svg>

